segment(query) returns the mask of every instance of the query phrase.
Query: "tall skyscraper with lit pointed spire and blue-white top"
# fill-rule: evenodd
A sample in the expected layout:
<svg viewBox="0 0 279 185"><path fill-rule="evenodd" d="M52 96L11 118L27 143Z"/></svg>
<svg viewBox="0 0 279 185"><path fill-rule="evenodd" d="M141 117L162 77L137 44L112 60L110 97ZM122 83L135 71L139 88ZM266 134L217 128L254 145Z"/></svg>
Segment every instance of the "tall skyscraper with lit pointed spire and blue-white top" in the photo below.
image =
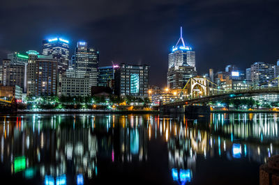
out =
<svg viewBox="0 0 279 185"><path fill-rule="evenodd" d="M180 29L180 38L172 47L169 54L169 67L167 70L167 87L183 88L190 77L197 75L195 67L195 51L185 42L182 37L182 27Z"/></svg>

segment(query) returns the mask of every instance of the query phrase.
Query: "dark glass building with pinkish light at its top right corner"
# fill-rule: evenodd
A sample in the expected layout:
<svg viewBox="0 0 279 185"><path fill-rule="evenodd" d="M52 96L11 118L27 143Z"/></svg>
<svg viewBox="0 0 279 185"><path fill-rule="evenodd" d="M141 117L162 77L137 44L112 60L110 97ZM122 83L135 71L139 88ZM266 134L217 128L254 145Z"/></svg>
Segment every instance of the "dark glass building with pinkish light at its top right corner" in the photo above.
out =
<svg viewBox="0 0 279 185"><path fill-rule="evenodd" d="M98 86L113 88L114 74L119 65L98 67Z"/></svg>

